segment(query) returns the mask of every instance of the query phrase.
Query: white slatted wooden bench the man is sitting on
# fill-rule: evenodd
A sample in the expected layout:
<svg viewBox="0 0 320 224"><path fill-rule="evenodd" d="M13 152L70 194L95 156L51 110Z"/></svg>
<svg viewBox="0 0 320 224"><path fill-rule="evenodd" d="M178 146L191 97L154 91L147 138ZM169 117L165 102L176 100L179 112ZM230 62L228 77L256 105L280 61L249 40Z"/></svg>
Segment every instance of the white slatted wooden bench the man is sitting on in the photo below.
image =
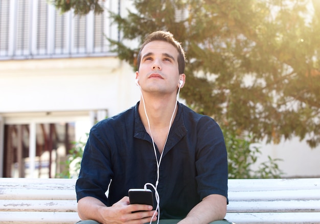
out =
<svg viewBox="0 0 320 224"><path fill-rule="evenodd" d="M75 179L0 178L0 223L75 223ZM229 180L226 218L320 223L320 179Z"/></svg>

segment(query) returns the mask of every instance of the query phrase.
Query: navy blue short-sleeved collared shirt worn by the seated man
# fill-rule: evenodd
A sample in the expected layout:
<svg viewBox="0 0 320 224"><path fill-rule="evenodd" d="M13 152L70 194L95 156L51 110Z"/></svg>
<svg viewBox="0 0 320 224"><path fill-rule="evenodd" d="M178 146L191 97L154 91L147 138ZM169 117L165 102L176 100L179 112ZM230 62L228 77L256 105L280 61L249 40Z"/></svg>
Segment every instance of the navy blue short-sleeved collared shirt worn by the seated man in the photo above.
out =
<svg viewBox="0 0 320 224"><path fill-rule="evenodd" d="M90 130L76 184L78 201L92 196L111 206L128 195L130 188L155 185L156 158L138 107L139 102ZM156 153L159 160L158 148ZM227 154L214 119L178 103L159 167L157 191L161 219L184 218L210 194L227 197Z"/></svg>

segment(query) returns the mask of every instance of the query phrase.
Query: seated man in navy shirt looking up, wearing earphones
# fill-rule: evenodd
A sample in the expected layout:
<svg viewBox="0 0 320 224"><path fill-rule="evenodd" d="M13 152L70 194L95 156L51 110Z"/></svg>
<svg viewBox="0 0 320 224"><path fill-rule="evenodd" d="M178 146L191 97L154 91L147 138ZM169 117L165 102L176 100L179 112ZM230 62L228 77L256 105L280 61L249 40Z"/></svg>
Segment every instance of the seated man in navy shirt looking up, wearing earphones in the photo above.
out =
<svg viewBox="0 0 320 224"><path fill-rule="evenodd" d="M186 82L184 68L184 49L171 33L146 38L136 71L141 101L90 130L76 191L80 218L95 221L81 224L149 223L157 216L160 223L230 223L222 220L227 205L223 135L212 118L177 102ZM157 211L129 203L128 190L146 183L159 195Z"/></svg>

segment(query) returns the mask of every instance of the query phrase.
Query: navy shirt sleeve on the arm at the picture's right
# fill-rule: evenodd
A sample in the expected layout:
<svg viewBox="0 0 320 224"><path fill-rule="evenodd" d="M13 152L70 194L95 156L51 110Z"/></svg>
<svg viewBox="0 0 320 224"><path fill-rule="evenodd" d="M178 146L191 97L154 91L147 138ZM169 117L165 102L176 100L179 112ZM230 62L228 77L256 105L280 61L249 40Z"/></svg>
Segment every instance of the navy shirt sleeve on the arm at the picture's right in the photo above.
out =
<svg viewBox="0 0 320 224"><path fill-rule="evenodd" d="M227 197L227 153L218 123L203 116L197 126L196 180L201 200L210 194Z"/></svg>

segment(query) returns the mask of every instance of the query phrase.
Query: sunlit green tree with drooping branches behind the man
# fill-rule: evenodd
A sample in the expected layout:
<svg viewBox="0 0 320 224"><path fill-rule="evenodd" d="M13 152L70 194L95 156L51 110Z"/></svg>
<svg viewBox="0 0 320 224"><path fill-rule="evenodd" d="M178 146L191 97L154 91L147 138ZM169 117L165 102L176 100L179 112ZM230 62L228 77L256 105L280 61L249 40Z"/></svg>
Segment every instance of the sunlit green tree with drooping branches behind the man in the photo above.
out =
<svg viewBox="0 0 320 224"><path fill-rule="evenodd" d="M103 1L54 0L62 12L102 12ZM187 52L181 96L229 133L252 141L299 136L320 143L320 3L317 0L134 0L111 13L122 38L110 40L136 69L138 40L167 30Z"/></svg>

